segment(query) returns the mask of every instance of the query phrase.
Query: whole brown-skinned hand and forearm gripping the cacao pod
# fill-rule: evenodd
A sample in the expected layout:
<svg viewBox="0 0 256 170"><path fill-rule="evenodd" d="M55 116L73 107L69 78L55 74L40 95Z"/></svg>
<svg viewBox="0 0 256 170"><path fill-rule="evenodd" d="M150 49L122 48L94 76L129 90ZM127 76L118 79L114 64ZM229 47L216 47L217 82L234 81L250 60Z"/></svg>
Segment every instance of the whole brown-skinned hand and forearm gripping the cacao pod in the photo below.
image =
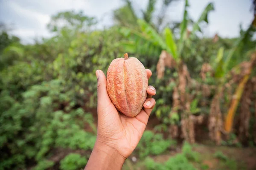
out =
<svg viewBox="0 0 256 170"><path fill-rule="evenodd" d="M148 79L151 71L146 69ZM125 159L131 155L139 143L148 117L154 108L156 94L153 86L148 86L143 109L135 117L128 117L116 110L108 96L106 77L101 70L98 78L98 131L97 139L85 170L121 170Z"/></svg>

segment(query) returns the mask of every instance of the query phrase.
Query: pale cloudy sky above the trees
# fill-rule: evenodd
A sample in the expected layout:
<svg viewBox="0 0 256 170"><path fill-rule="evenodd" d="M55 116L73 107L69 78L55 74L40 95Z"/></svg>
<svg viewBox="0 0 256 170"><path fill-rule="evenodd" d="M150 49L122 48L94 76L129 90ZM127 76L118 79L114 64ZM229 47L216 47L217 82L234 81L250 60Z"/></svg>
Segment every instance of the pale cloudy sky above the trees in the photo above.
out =
<svg viewBox="0 0 256 170"><path fill-rule="evenodd" d="M145 9L148 0L132 0L136 11ZM209 24L204 35L236 37L239 25L246 29L253 20L252 0L189 0L189 16L198 20L208 3L215 10L209 14ZM11 25L11 34L20 37L23 43L32 43L34 38L50 37L47 23L50 17L60 11L84 11L90 17L100 20L98 28L113 25L112 11L124 5L124 0L0 0L0 23ZM161 0L157 0L157 12ZM184 0L175 1L166 11L171 21L182 20Z"/></svg>

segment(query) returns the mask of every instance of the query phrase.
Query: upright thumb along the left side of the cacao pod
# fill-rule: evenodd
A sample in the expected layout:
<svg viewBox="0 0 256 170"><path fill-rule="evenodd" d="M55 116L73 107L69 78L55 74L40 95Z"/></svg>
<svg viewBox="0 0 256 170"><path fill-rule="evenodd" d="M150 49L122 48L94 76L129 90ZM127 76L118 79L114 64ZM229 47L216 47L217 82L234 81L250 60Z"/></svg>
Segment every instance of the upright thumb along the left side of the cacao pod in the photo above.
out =
<svg viewBox="0 0 256 170"><path fill-rule="evenodd" d="M98 106L105 105L110 102L108 92L107 92L107 81L105 74L101 70L96 71L97 77L97 96L98 96Z"/></svg>

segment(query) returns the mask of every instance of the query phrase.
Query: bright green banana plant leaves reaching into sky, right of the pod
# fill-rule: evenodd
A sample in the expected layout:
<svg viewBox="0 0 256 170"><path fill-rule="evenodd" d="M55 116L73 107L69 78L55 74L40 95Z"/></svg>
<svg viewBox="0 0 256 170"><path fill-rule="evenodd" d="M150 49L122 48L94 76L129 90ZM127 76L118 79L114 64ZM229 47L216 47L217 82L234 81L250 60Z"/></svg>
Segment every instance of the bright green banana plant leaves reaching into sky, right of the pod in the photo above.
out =
<svg viewBox="0 0 256 170"><path fill-rule="evenodd" d="M128 27L120 28L120 32L125 37L129 38L129 41L123 41L122 45L125 49L129 50L129 52L136 52L138 54L143 54L145 51L154 51L156 49L156 51L165 50L168 51L177 62L180 62L182 60L182 51L185 43L189 44L190 38L195 38L196 32L201 31L199 24L202 22L208 23L208 14L210 11L214 10L213 4L209 3L197 22L194 23L191 34L188 35L187 27L190 20L188 17L188 7L189 3L188 0L186 0L183 20L180 23L179 40L176 40L169 27L166 27L162 34L159 34L145 20L139 19L137 20L137 24L140 27L140 31Z"/></svg>

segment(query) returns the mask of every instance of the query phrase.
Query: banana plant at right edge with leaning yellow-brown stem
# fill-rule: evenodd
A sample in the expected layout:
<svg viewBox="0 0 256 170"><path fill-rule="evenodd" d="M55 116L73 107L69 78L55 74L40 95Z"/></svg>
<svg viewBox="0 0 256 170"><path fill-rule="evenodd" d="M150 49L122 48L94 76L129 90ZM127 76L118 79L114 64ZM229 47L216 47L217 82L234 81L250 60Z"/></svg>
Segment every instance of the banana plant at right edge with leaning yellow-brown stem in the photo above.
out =
<svg viewBox="0 0 256 170"><path fill-rule="evenodd" d="M221 87L224 86L225 79L227 79L227 76L229 75L229 71L232 68L237 66L238 62L236 62L236 60L238 60L238 59L236 57L234 57L234 54L239 53L239 51L238 51L239 46L240 46L240 50L242 50L244 48L244 44L245 44L244 42L247 42L248 39L253 37L253 34L256 31L256 27L254 26L253 23L255 23L255 18L254 18L252 24L249 26L249 28L246 31L242 32L240 38L236 40L233 47L228 52L227 57L224 57L224 48L219 49L216 60L212 64L212 66L215 70L215 79L216 79L216 82L218 82L217 89L221 89ZM252 51L255 51L255 50L256 50L256 48L252 49ZM254 60L254 58L251 59L250 63L252 63L253 60ZM231 61L233 61L233 62L231 62ZM252 70L253 70L253 65L250 65L250 68L249 68L247 74L244 75L244 77L241 79L241 82L239 82L239 85L235 90L234 96L236 96L236 97L233 98L230 102L230 108L227 111L225 122L224 122L225 133L230 133L232 130L234 116L235 116L236 110L238 108L241 96L243 94L244 87L245 87L248 79L250 78L250 74L251 74ZM222 93L222 92L220 90L220 91L217 91L217 93Z"/></svg>

